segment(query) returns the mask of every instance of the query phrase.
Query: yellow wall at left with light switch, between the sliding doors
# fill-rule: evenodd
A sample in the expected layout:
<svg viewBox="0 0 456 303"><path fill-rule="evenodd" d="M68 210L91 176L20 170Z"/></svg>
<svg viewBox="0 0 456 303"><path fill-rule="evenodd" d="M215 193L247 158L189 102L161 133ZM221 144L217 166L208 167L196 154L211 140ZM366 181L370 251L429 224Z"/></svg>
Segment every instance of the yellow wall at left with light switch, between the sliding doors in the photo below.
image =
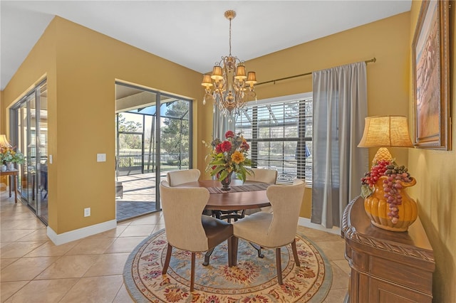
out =
<svg viewBox="0 0 456 303"><path fill-rule="evenodd" d="M2 117L44 74L49 227L61 234L115 220L115 80L197 98L201 74L56 17L5 88ZM197 102L194 110L197 118ZM97 162L97 153L107 161Z"/></svg>

